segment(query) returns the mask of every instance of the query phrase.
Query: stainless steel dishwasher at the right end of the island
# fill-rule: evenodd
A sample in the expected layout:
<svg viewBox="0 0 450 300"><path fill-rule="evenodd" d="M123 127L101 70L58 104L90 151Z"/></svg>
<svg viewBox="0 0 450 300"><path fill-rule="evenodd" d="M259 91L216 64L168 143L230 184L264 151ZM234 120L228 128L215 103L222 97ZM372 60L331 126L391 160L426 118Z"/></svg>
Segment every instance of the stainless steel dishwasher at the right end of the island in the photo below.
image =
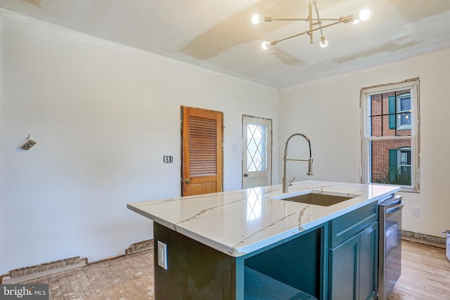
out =
<svg viewBox="0 0 450 300"><path fill-rule="evenodd" d="M401 196L378 204L378 299L387 299L401 274Z"/></svg>

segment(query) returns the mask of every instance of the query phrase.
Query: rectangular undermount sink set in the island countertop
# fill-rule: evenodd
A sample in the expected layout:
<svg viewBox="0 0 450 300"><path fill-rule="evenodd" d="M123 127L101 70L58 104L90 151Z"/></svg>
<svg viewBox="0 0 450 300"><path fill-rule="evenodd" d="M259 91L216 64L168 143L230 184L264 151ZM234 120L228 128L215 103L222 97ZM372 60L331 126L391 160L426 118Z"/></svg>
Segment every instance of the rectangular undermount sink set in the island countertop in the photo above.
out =
<svg viewBox="0 0 450 300"><path fill-rule="evenodd" d="M308 193L302 193L302 194L290 194L290 195L283 195L278 197L273 197L272 199L276 200L283 200L283 201L290 201L290 202L301 202L305 204L313 204L313 205L319 205L322 207L329 207L333 204L337 204L349 199L352 199L354 197L358 197L359 195L352 195L352 194L327 194L322 193L321 191L309 191Z"/></svg>

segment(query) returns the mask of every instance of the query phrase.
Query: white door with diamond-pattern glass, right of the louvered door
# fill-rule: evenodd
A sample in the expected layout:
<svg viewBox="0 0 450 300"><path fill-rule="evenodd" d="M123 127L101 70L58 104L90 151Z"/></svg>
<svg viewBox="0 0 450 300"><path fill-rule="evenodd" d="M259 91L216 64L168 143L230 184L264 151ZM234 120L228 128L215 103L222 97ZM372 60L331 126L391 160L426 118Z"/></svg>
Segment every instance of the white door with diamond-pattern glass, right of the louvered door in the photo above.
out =
<svg viewBox="0 0 450 300"><path fill-rule="evenodd" d="M272 120L243 115L242 187L271 185Z"/></svg>

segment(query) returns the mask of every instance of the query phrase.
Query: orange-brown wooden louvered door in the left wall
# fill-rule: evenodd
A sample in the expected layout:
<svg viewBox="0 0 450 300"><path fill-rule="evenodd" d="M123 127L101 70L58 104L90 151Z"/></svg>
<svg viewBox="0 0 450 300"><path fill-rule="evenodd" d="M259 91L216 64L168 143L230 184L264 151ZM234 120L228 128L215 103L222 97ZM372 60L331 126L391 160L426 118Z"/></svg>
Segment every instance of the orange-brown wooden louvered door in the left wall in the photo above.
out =
<svg viewBox="0 0 450 300"><path fill-rule="evenodd" d="M181 195L222 191L223 113L181 107Z"/></svg>

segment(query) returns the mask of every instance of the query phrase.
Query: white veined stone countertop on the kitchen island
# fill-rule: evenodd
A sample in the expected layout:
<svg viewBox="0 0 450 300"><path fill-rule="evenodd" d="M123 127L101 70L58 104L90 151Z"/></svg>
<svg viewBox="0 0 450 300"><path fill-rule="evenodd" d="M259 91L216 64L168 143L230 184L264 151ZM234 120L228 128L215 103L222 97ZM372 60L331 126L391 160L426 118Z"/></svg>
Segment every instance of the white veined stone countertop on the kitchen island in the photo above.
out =
<svg viewBox="0 0 450 300"><path fill-rule="evenodd" d="M392 185L302 181L293 183L287 194L281 192L281 185L271 185L134 202L127 207L193 240L238 257L383 200L399 190ZM353 198L329 207L273 199L311 191Z"/></svg>

